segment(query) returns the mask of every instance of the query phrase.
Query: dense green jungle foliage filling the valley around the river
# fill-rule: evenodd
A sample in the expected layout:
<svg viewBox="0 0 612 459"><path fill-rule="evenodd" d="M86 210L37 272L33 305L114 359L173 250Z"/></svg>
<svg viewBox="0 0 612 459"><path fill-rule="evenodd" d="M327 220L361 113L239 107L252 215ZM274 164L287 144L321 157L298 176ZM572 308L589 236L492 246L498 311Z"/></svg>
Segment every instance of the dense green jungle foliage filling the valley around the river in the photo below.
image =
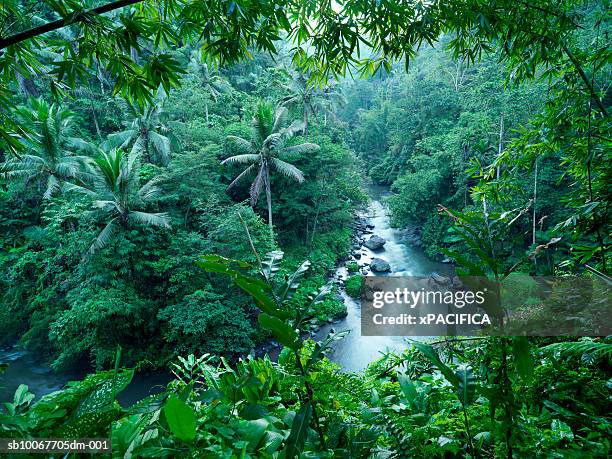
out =
<svg viewBox="0 0 612 459"><path fill-rule="evenodd" d="M607 0L3 2L0 346L92 374L19 386L0 437L609 457L610 337L417 341L360 373L326 356L345 332L312 339L346 314L368 180L458 273L609 285L609 33ZM143 368L173 381L121 406Z"/></svg>

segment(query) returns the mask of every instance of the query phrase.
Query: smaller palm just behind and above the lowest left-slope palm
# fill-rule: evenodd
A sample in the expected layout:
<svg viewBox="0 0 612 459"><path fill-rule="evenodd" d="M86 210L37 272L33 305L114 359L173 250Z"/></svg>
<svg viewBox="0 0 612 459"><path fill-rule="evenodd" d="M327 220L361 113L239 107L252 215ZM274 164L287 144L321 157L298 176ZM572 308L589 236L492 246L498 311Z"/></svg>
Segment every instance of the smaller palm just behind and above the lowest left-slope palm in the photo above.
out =
<svg viewBox="0 0 612 459"><path fill-rule="evenodd" d="M127 149L132 144L130 155L142 154L147 162L165 166L170 161L170 154L177 148L177 141L170 128L163 123L163 100L158 100L144 109L137 111L128 104L134 119L126 123L124 131L110 134L104 147Z"/></svg>

